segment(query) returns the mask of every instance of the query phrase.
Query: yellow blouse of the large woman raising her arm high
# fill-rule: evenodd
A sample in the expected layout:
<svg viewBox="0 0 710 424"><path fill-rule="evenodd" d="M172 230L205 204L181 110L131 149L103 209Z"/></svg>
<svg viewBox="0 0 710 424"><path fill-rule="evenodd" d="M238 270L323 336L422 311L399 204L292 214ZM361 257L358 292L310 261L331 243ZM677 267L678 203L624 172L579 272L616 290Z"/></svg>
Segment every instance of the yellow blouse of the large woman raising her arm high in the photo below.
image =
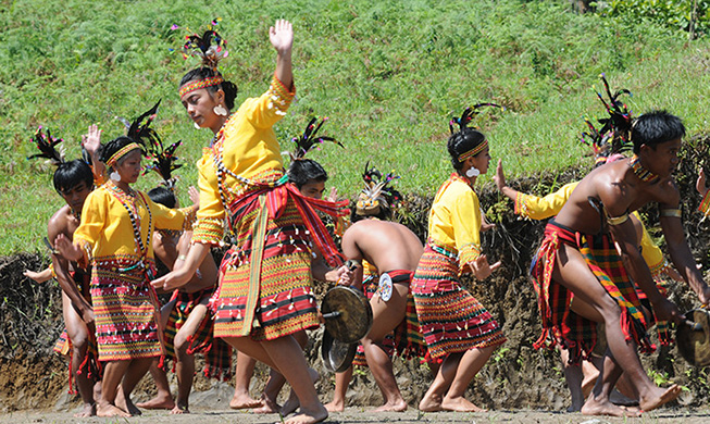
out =
<svg viewBox="0 0 710 424"><path fill-rule="evenodd" d="M220 244L224 236L225 205L248 190L250 182L275 183L284 175L273 125L286 114L294 96L295 90L288 90L274 76L269 90L259 98L245 100L217 133L214 144L202 150L202 158L197 162L200 210L192 242ZM216 161L226 170L222 183Z"/></svg>

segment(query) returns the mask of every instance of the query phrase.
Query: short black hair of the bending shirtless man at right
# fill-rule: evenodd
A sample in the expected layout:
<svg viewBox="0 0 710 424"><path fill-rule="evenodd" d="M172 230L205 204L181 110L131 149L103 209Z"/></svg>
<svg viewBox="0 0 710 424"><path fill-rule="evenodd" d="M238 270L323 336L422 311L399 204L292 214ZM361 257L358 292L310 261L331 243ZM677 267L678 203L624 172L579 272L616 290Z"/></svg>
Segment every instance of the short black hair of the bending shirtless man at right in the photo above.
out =
<svg viewBox="0 0 710 424"><path fill-rule="evenodd" d="M656 146L685 136L685 126L680 117L667 111L651 111L638 116L631 128L634 153L642 145L656 149Z"/></svg>

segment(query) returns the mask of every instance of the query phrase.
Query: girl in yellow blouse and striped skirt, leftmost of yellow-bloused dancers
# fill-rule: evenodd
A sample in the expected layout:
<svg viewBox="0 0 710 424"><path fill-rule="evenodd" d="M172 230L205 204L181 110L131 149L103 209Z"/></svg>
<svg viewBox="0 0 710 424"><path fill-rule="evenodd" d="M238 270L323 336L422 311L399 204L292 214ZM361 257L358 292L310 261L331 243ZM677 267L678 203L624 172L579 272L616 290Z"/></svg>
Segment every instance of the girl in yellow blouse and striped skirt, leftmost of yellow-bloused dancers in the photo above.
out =
<svg viewBox="0 0 710 424"><path fill-rule="evenodd" d="M139 411L130 402L130 391L162 352L159 304L150 286L152 233L155 227L182 229L186 214L130 188L141 172L141 148L133 139L109 142L101 160L111 172L110 180L87 197L74 241L60 235L55 246L65 259L92 266L91 301L103 363L97 414L132 416ZM123 396L116 397L119 384Z"/></svg>

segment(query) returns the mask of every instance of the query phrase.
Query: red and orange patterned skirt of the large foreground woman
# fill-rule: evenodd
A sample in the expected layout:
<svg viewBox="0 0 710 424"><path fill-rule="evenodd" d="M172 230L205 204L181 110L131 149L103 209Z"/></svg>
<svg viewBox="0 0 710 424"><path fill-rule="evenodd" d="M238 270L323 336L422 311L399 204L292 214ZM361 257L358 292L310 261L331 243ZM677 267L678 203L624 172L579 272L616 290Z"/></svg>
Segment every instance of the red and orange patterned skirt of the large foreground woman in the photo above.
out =
<svg viewBox="0 0 710 424"><path fill-rule="evenodd" d="M239 216L237 245L220 265L220 287L213 302L215 337L244 336L251 277L254 221L259 208ZM277 219L267 217L258 282L258 301L248 331L254 340L271 340L319 326L311 286L310 238L303 220L288 199ZM256 250L254 250L256 251Z"/></svg>

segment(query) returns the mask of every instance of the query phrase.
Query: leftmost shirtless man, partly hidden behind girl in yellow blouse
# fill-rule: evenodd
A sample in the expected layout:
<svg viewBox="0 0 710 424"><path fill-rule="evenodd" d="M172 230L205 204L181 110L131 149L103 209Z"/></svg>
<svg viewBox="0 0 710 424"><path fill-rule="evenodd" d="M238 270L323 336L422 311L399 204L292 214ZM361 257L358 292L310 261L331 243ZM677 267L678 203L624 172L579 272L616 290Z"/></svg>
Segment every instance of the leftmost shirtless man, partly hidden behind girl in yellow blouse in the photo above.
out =
<svg viewBox="0 0 710 424"><path fill-rule="evenodd" d="M83 160L76 159L58 164L53 183L57 192L66 204L60 208L49 220L47 237L54 240L63 234L70 240L79 226L79 216L84 201L94 189L95 172L101 174L103 164L98 161L97 153L101 142L101 130L91 125L87 135L83 136L83 146L90 154L97 167L95 170ZM76 382L83 408L75 416L96 415L95 385L99 379L97 353L89 351L89 340L95 332L94 309L90 303L90 272L79 269L76 263L70 263L52 251L52 267L57 282L62 288L62 315L66 325L70 356L70 373ZM66 349L66 350L68 350ZM89 359L86 360L87 354ZM98 394L98 390L96 390Z"/></svg>

